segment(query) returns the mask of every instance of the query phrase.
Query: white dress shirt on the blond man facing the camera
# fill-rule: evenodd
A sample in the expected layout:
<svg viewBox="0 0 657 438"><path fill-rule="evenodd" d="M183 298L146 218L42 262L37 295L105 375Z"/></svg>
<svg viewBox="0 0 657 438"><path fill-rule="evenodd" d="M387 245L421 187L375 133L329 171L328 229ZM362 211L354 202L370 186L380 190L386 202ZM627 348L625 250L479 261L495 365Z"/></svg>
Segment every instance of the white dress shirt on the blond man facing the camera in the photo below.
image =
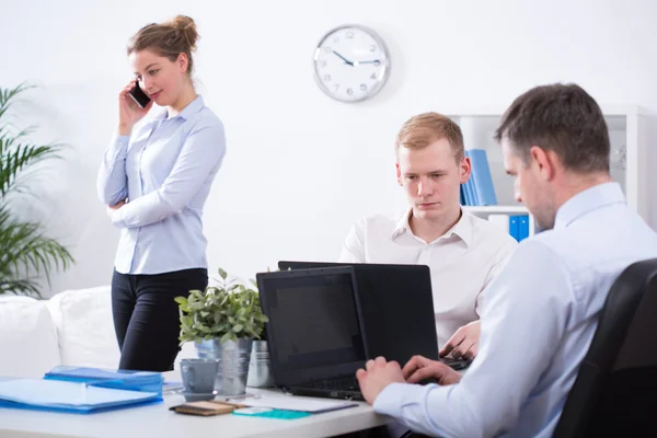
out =
<svg viewBox="0 0 657 438"><path fill-rule="evenodd" d="M359 220L345 240L339 261L428 265L442 347L460 326L479 319L482 290L518 243L495 224L464 211L448 232L427 243L411 231L410 215L408 209L396 217Z"/></svg>

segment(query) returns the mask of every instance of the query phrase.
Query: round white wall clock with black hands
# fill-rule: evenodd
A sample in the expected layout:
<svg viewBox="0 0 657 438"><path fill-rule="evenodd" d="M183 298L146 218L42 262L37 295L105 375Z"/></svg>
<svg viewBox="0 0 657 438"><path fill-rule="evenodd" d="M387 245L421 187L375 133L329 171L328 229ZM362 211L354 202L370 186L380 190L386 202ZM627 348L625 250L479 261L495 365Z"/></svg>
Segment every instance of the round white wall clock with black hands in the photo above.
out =
<svg viewBox="0 0 657 438"><path fill-rule="evenodd" d="M389 72L385 44L364 26L336 27L324 35L315 49L315 80L324 93L342 102L373 96Z"/></svg>

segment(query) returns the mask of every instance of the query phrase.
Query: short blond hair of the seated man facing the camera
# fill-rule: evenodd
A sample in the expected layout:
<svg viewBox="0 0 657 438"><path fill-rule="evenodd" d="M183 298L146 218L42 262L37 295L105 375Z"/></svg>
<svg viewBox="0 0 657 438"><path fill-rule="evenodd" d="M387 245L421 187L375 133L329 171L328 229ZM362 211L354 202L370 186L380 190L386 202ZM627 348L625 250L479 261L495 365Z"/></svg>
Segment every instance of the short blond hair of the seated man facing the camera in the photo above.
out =
<svg viewBox="0 0 657 438"><path fill-rule="evenodd" d="M438 113L424 113L411 117L397 134L394 142L395 155L400 148L424 149L446 138L451 146L457 164L465 157L463 134L451 118Z"/></svg>

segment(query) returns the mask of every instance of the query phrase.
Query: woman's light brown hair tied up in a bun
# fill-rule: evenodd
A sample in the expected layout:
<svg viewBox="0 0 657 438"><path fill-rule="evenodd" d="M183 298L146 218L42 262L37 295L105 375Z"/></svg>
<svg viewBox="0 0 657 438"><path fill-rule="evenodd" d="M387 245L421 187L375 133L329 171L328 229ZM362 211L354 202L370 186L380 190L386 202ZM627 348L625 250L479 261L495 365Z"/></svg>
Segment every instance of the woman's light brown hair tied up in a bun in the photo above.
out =
<svg viewBox="0 0 657 438"><path fill-rule="evenodd" d="M152 23L141 27L128 43L128 55L150 49L173 62L180 54L185 54L188 59L187 72L192 73L194 67L192 53L196 50L198 38L194 20L189 16L177 15L168 22Z"/></svg>

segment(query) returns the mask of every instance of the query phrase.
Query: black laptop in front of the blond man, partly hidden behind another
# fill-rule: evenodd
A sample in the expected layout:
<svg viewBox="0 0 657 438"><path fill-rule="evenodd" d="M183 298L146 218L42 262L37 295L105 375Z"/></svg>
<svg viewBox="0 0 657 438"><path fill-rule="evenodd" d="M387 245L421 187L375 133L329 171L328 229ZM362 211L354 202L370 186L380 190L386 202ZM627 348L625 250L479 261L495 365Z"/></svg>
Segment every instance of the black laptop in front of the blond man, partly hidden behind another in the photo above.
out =
<svg viewBox="0 0 657 438"><path fill-rule="evenodd" d="M281 270L354 268L355 293L368 359L383 356L402 367L420 355L461 370L471 360L441 358L434 314L431 275L426 265L280 261Z"/></svg>

